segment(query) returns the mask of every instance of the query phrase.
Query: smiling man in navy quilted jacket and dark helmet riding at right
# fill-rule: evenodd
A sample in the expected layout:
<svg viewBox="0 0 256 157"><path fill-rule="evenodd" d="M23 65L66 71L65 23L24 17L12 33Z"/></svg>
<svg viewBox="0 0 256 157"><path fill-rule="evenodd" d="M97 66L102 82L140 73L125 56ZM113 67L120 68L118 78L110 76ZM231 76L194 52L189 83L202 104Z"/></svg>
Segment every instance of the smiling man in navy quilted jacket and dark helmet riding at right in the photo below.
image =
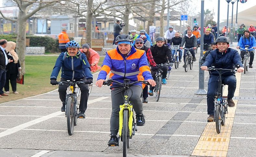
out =
<svg viewBox="0 0 256 157"><path fill-rule="evenodd" d="M201 66L202 70L207 69L208 67L215 66L215 68L222 69L234 69L234 65L239 64L240 68L237 70L238 73L244 71L243 64L241 62L241 56L237 50L228 48L229 41L227 37L218 37L216 39L217 49L212 50L206 57L204 64ZM228 85L228 94L227 94L227 104L229 107L234 107L235 103L232 98L236 90L236 76L234 72L225 72L222 73L222 82ZM207 118L208 122L214 120L214 96L217 91L219 74L216 71L211 72L210 78L208 81L208 92L207 92L207 112L210 115Z"/></svg>

